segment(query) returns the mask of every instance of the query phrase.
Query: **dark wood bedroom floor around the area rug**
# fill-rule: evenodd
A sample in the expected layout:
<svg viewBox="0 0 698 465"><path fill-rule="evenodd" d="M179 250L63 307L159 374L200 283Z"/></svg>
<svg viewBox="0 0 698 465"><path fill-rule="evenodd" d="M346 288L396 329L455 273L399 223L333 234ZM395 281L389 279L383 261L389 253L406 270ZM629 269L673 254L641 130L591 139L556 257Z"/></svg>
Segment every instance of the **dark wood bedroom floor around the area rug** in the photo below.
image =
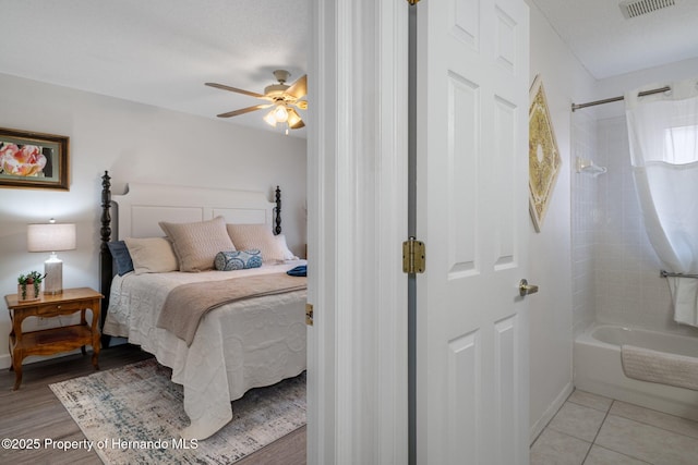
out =
<svg viewBox="0 0 698 465"><path fill-rule="evenodd" d="M12 391L14 371L0 370L0 439L85 439L80 427L60 401L49 389L49 384L89 375L94 371L92 354L69 355L51 360L28 364L23 369L22 386ZM151 357L132 345L119 345L99 353L99 368L108 370ZM200 444L205 444L201 442ZM56 451L43 446L37 450L0 449L0 464L100 464L99 456L85 450ZM279 439L266 448L237 462L236 465L305 464L305 427Z"/></svg>

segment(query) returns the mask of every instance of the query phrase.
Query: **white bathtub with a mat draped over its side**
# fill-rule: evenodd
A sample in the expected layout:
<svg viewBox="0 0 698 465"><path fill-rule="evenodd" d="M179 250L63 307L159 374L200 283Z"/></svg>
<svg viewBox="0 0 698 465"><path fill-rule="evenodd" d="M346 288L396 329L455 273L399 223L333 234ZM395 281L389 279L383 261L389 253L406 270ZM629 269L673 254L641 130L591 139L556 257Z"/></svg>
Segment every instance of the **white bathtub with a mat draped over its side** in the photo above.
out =
<svg viewBox="0 0 698 465"><path fill-rule="evenodd" d="M698 420L698 391L626 377L621 364L623 344L698 357L698 338L593 325L575 340L575 388Z"/></svg>

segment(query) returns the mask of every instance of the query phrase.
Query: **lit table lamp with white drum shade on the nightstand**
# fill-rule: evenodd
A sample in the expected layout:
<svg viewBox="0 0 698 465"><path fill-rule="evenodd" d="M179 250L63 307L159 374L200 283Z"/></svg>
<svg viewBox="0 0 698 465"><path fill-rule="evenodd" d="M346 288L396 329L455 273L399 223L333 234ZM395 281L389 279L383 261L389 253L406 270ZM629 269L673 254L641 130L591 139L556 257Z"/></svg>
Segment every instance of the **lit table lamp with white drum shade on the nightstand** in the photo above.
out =
<svg viewBox="0 0 698 465"><path fill-rule="evenodd" d="M27 249L29 252L50 252L44 262L44 293L60 294L63 292L63 262L56 256L59 250L75 248L75 224L57 223L51 218L49 223L29 224L27 229Z"/></svg>

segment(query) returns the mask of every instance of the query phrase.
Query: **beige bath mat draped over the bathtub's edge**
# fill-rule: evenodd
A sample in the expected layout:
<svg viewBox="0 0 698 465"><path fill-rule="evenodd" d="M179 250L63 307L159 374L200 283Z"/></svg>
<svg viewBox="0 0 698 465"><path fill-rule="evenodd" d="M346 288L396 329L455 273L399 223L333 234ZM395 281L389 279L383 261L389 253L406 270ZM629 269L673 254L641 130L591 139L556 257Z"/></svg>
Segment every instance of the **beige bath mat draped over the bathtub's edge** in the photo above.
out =
<svg viewBox="0 0 698 465"><path fill-rule="evenodd" d="M696 357L622 345L621 360L628 378L698 391Z"/></svg>

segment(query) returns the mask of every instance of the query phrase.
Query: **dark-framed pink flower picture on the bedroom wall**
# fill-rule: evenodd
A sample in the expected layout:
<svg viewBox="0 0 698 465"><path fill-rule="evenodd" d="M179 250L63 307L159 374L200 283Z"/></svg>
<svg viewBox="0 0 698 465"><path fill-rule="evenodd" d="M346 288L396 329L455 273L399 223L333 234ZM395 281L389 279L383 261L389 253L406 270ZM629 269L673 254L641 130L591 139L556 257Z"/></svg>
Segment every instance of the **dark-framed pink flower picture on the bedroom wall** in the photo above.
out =
<svg viewBox="0 0 698 465"><path fill-rule="evenodd" d="M69 137L0 129L0 187L69 191Z"/></svg>

